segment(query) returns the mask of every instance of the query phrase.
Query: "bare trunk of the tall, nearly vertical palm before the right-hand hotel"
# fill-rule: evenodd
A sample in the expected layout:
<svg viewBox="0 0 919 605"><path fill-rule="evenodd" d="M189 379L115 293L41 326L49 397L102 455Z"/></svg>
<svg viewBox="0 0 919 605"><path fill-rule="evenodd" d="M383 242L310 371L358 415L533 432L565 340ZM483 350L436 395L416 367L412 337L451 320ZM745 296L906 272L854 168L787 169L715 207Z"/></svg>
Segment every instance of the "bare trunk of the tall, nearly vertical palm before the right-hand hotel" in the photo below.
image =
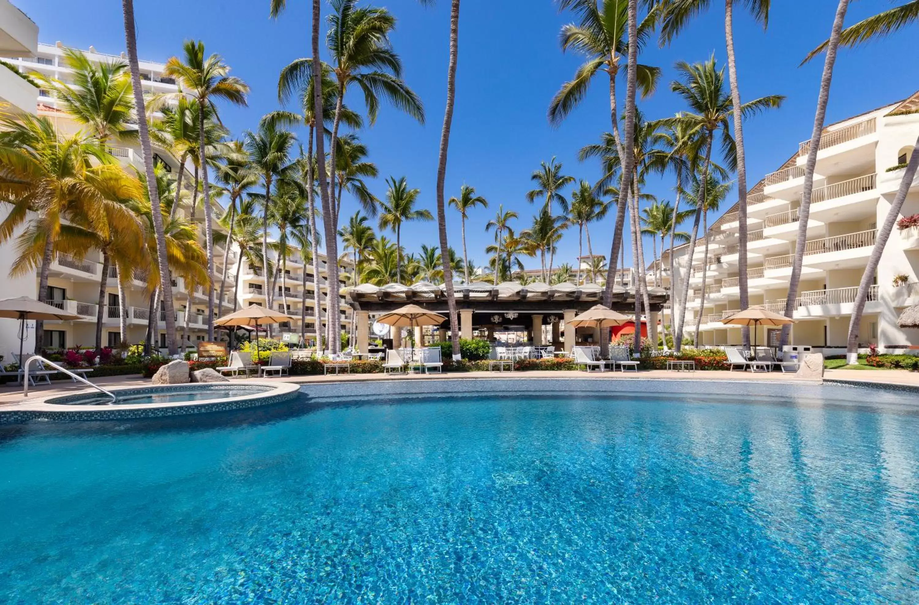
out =
<svg viewBox="0 0 919 605"><path fill-rule="evenodd" d="M741 290L741 309L750 306L750 291L747 288L747 200L746 200L746 151L743 148L743 114L741 107L741 91L737 85L737 61L734 57L734 31L733 31L733 4L734 0L724 0L724 38L727 41L728 75L731 83L731 101L735 108L734 116L734 143L737 148L737 218L740 222L740 241L738 241L737 274L740 279L738 285ZM708 231L706 231L708 235ZM708 237L705 241L706 250L709 247ZM706 263L708 264L708 255ZM704 272L703 272L704 273ZM704 284L703 284L704 286ZM698 321L697 321L698 324ZM698 328L697 338L698 338ZM741 328L743 335L743 348L750 348L750 329Z"/></svg>

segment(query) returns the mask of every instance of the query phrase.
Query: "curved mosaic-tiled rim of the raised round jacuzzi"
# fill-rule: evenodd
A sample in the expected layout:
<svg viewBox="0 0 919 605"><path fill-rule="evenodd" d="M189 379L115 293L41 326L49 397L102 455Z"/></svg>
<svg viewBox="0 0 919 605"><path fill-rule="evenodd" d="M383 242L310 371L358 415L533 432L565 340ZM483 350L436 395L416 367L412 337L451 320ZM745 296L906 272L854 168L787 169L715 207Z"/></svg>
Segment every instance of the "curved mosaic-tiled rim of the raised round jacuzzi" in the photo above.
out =
<svg viewBox="0 0 919 605"><path fill-rule="evenodd" d="M273 391L242 397L216 399L187 404L165 404L150 406L97 406L94 409L66 409L65 405L49 404L61 409L29 409L29 404L21 404L10 409L0 409L0 424L19 424L29 420L79 421L79 420L136 420L145 418L163 418L166 416L183 416L187 414L205 414L233 409L255 408L289 401L300 396L300 388L290 383L273 383ZM187 387L183 385L182 387ZM155 387L154 387L155 388ZM112 389L115 391L116 389ZM136 387L124 389L136 391ZM59 397L54 399L59 399ZM49 398L51 399L51 398ZM29 402L31 404L37 402Z"/></svg>

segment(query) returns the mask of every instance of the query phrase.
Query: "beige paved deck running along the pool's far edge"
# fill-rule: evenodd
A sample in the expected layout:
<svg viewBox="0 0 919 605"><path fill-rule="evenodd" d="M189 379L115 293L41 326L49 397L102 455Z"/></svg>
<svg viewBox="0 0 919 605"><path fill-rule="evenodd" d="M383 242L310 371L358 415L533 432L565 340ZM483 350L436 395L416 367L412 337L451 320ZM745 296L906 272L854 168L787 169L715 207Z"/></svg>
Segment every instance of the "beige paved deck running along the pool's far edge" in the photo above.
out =
<svg viewBox="0 0 919 605"><path fill-rule="evenodd" d="M233 382L287 382L298 385L315 383L335 383L351 381L375 380L437 380L438 378L476 380L484 378L507 378L509 380L527 380L528 378L591 378L595 380L634 380L660 379L660 380L714 380L714 381L762 381L762 382L787 382L789 384L802 381L793 374L781 372L751 373L751 372L724 372L724 371L698 371L698 372L670 372L665 370L649 370L642 372L576 372L576 371L528 371L528 372L457 372L442 375L382 375L382 374L330 374L311 376L283 376L280 378L233 378ZM826 370L824 380L841 380L850 383L861 383L872 387L915 387L919 388L919 372L904 370ZM152 385L149 378L141 375L105 376L93 381L100 387L149 387ZM807 384L813 384L808 382ZM84 385L65 381L52 381L51 385L29 387L28 398L23 397L22 387L10 385L0 386L0 407L23 403L32 399L43 399L57 395L73 394L79 391L91 391Z"/></svg>

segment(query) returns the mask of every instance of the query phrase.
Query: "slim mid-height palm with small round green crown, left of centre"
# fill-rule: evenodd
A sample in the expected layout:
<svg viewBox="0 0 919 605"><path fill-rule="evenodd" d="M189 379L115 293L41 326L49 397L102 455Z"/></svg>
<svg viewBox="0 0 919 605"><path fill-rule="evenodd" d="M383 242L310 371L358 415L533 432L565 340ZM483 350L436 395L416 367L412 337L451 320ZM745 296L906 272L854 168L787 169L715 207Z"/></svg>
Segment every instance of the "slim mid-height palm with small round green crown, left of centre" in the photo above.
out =
<svg viewBox="0 0 919 605"><path fill-rule="evenodd" d="M292 172L290 151L296 139L289 130L279 129L275 122L265 119L259 123L257 132L246 131L244 139L252 170L258 174L262 186L265 187L265 196L262 199L262 259L265 264L262 265L262 276L265 281L265 303L270 307L273 293L267 261L271 191L276 179L288 176Z"/></svg>

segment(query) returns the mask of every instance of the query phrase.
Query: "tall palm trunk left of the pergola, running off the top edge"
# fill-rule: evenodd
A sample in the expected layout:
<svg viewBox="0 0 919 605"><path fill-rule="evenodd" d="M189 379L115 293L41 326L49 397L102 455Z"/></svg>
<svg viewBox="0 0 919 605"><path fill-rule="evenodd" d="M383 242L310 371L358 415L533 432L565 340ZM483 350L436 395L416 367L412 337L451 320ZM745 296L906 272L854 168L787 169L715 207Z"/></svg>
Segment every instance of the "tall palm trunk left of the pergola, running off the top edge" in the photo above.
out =
<svg viewBox="0 0 919 605"><path fill-rule="evenodd" d="M328 265L328 275L329 275L329 300L328 310L335 311L337 314L337 308L335 308L335 303L338 300L338 241L337 238L337 229L334 222L334 208L330 205L329 200L329 190L327 188L327 178L326 178L326 168L325 168L325 151L324 151L324 140L323 132L325 128L323 126L323 81L322 81L322 69L317 69L319 65L322 64L319 57L319 23L320 23L320 6L321 0L312 0L312 111L313 119L315 119L315 129L319 132L319 136L316 137L316 162L318 164L319 173L319 196L322 201L323 208L323 227L325 230L325 255L327 259L333 259L332 263ZM338 97L339 100L341 96ZM333 141L333 149L335 141ZM334 163L332 164L335 165ZM334 202L335 200L332 200ZM318 258L318 257L317 257ZM319 261L316 261L317 266ZM317 272L318 275L318 272ZM318 295L317 295L318 296ZM316 311L319 313L319 309ZM318 331L317 325L317 331ZM320 343L321 344L321 343ZM338 343L329 342L329 350L332 353L338 353Z"/></svg>

